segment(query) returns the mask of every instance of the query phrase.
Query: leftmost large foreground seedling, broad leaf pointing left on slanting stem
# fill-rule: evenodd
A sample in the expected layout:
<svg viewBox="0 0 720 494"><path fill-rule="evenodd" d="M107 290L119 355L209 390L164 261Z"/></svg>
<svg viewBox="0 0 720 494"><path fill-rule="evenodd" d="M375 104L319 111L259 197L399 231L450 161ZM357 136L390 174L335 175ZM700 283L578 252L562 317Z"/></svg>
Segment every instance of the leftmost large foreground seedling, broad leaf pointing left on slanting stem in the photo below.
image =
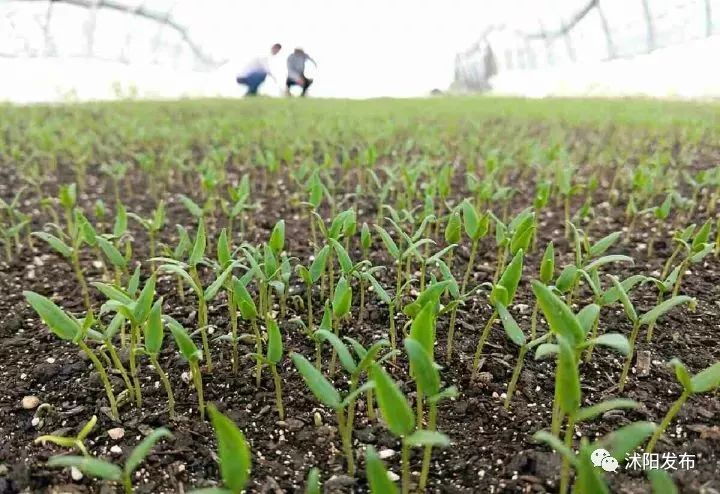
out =
<svg viewBox="0 0 720 494"><path fill-rule="evenodd" d="M89 314L84 319L78 320L55 305L55 302L47 297L31 291L24 291L23 295L45 325L50 328L58 338L74 343L88 356L105 388L105 394L110 403L112 418L118 420L117 400L115 399L115 393L112 390L112 385L110 384L110 379L105 371L105 367L103 367L102 362L97 358L95 352L85 343L88 330L94 320L92 314Z"/></svg>

